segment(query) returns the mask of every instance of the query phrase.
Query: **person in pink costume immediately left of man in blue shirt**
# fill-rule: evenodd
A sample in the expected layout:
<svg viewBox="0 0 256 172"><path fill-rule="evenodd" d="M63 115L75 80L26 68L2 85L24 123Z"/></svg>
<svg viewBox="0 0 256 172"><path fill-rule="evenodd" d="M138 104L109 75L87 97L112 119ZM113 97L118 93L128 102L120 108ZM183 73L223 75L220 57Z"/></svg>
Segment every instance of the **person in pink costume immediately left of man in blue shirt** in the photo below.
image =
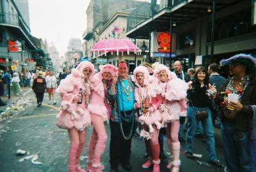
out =
<svg viewBox="0 0 256 172"><path fill-rule="evenodd" d="M113 76L116 76L115 66L106 64L102 66L100 73L93 76L90 84L92 101L88 110L94 127L89 145L87 170L92 172L99 172L105 168L100 164L100 157L106 147L107 134L104 122L109 119L112 109L113 101L111 101L108 91Z"/></svg>

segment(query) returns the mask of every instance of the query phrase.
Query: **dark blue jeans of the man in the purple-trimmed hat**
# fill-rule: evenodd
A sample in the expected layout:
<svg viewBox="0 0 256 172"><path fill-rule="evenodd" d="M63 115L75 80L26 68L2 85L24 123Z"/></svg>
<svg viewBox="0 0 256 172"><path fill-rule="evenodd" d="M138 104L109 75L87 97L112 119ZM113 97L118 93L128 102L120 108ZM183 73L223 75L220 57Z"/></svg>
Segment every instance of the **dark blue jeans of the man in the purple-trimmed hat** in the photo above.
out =
<svg viewBox="0 0 256 172"><path fill-rule="evenodd" d="M221 124L221 136L229 171L255 172L256 157L248 131L236 131L234 123L225 121Z"/></svg>

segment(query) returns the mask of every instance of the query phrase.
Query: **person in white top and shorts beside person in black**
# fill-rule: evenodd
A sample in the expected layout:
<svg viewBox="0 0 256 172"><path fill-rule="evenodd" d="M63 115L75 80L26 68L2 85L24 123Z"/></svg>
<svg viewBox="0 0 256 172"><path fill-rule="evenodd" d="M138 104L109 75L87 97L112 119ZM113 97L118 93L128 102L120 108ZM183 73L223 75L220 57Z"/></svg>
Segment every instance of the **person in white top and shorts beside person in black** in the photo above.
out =
<svg viewBox="0 0 256 172"><path fill-rule="evenodd" d="M48 104L56 104L54 92L57 87L57 79L54 75L52 75L52 71L49 72L49 75L45 77L46 82L46 92L49 95L49 103Z"/></svg>

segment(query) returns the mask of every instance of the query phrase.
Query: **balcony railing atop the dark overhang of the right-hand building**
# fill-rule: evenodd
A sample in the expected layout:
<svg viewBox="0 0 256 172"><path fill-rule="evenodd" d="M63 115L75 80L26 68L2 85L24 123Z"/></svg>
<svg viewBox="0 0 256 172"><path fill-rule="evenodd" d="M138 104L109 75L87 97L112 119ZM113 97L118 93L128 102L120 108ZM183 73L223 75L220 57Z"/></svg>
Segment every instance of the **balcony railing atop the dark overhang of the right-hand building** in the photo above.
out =
<svg viewBox="0 0 256 172"><path fill-rule="evenodd" d="M127 17L127 32L131 31L137 25L143 23L148 18L154 16L165 8L173 8L181 3L187 3L188 0L163 0L159 4L142 3L135 10L133 10Z"/></svg>

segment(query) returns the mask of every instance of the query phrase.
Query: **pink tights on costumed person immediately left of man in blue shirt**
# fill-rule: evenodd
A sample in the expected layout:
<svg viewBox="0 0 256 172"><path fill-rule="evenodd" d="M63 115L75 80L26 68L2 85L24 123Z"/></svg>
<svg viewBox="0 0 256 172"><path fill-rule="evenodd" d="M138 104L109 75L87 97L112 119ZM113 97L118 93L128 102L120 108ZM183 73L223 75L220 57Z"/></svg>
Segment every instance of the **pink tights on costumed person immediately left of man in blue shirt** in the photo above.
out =
<svg viewBox="0 0 256 172"><path fill-rule="evenodd" d="M105 150L108 137L102 117L92 113L91 120L94 127L90 139L88 162L91 164L100 164L100 157Z"/></svg>

